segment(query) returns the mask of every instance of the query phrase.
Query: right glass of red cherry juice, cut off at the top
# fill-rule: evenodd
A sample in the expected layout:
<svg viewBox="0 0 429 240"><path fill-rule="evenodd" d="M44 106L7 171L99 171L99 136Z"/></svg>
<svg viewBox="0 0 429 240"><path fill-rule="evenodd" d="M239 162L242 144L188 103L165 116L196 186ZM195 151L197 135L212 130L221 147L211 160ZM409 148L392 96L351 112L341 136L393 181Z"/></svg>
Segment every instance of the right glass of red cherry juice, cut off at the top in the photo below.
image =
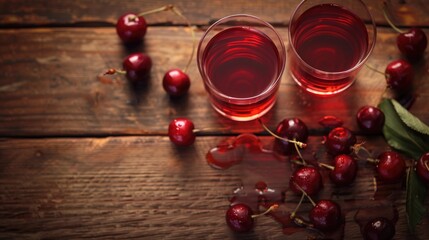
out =
<svg viewBox="0 0 429 240"><path fill-rule="evenodd" d="M308 92L344 91L372 52L376 26L361 0L304 0L289 22L288 68Z"/></svg>

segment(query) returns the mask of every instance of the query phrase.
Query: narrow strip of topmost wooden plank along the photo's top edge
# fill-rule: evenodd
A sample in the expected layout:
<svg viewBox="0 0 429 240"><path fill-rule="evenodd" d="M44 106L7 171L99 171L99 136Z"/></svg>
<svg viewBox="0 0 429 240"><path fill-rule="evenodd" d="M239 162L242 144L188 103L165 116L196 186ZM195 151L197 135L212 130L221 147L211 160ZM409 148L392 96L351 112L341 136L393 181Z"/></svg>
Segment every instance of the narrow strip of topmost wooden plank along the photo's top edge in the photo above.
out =
<svg viewBox="0 0 429 240"><path fill-rule="evenodd" d="M175 3L188 18L198 25L207 25L219 18L236 13L261 17L274 24L289 22L293 9L300 0L293 1L180 1ZM364 0L377 24L387 25L381 12L381 1ZM1 0L0 23L2 26L78 25L111 26L126 12L144 12L171 1L61 1L61 0ZM47 7L49 6L49 7ZM429 7L425 0L390 0L389 11L396 24L401 26L429 26ZM169 13L147 16L151 25L186 24Z"/></svg>

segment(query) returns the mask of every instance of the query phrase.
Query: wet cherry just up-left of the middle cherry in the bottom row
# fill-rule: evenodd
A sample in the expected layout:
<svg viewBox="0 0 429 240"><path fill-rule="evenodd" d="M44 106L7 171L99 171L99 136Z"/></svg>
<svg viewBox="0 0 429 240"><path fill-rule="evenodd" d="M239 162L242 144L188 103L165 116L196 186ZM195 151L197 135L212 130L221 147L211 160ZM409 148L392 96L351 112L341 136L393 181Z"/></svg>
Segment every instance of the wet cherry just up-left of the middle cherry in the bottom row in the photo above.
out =
<svg viewBox="0 0 429 240"><path fill-rule="evenodd" d="M322 175L314 167L302 167L295 170L289 180L290 189L296 194L301 194L302 191L295 184L308 195L315 195L322 189Z"/></svg>

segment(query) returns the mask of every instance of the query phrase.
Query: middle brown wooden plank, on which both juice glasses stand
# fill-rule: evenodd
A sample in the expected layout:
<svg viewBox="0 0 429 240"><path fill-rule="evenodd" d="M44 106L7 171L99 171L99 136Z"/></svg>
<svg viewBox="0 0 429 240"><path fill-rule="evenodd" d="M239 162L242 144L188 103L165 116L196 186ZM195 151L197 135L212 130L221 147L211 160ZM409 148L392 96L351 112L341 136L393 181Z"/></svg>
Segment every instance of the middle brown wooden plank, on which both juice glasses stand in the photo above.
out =
<svg viewBox="0 0 429 240"><path fill-rule="evenodd" d="M279 31L287 44L286 29ZM198 31L197 38L201 35ZM400 55L390 30L380 28L377 41L368 63L383 71ZM211 109L196 61L189 69L192 86L186 97L170 99L164 92L165 71L183 68L191 52L186 28L153 27L144 45L134 49L124 48L110 28L1 30L0 45L1 136L166 134L169 121L179 116L191 118L197 128L261 130L256 122L235 123ZM148 86L131 88L123 76L97 77L108 68L120 68L132 51L143 51L153 59ZM415 65L416 101L411 111L429 123L427 68L425 62ZM318 120L335 115L358 130L355 113L363 105L376 105L384 88L383 75L363 68L347 92L315 97L299 89L286 71L278 104L266 118L274 127L283 118L300 117L318 132L322 128Z"/></svg>

